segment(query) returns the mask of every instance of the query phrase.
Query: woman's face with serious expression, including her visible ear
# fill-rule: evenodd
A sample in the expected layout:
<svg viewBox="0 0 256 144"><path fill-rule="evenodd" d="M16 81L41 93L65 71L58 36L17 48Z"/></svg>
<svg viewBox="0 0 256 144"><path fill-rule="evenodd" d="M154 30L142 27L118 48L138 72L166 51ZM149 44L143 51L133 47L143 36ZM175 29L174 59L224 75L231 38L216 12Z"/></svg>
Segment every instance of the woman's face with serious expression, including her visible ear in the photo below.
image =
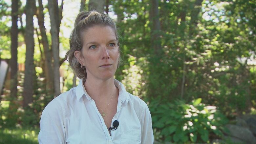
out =
<svg viewBox="0 0 256 144"><path fill-rule="evenodd" d="M106 80L117 70L118 49L115 31L110 26L94 26L83 32L83 48L75 51L75 57L85 66L87 78Z"/></svg>

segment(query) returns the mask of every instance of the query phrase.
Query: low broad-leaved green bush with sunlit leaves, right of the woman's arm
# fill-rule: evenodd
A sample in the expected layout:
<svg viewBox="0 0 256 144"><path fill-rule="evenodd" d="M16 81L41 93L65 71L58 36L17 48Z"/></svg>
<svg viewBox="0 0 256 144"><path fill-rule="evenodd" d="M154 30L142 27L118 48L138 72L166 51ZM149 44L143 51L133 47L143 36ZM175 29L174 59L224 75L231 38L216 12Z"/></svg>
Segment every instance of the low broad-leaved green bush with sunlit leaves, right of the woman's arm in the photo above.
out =
<svg viewBox="0 0 256 144"><path fill-rule="evenodd" d="M215 106L206 106L202 99L186 104L182 100L160 104L155 101L149 107L156 140L185 142L209 142L221 137L226 117Z"/></svg>

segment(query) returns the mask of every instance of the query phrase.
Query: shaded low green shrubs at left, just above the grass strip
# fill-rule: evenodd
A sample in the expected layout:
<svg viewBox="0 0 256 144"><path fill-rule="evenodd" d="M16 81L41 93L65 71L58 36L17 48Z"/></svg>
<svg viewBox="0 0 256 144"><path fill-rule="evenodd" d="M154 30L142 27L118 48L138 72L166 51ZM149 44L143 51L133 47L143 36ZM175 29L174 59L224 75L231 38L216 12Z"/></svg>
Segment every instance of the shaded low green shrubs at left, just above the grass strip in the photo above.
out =
<svg viewBox="0 0 256 144"><path fill-rule="evenodd" d="M22 107L23 96L23 81L24 73L18 74L18 95L16 97L10 96L10 91L6 90L6 94L1 95L0 103L0 127L1 128L24 128L24 127L38 127L40 116L44 107L54 98L53 95L47 95L47 90L42 89L45 85L44 78L40 75L37 78L37 87L33 95L33 102L29 107Z"/></svg>

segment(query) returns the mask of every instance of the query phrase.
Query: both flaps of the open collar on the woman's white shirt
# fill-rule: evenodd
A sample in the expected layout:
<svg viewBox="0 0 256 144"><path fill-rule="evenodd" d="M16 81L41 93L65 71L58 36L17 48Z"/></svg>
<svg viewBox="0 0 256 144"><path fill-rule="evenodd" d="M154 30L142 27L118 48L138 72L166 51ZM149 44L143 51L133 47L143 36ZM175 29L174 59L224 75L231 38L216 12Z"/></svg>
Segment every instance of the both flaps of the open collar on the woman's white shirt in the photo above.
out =
<svg viewBox="0 0 256 144"><path fill-rule="evenodd" d="M122 104L126 105L129 101L129 93L126 92L124 85L119 82L118 80L114 79L115 86L119 89L119 97L118 100L121 100ZM84 85L83 85L83 79L79 81L79 84L76 86L75 89L76 98L79 101L80 98L85 95L88 100L91 100L92 98L90 95L86 92Z"/></svg>

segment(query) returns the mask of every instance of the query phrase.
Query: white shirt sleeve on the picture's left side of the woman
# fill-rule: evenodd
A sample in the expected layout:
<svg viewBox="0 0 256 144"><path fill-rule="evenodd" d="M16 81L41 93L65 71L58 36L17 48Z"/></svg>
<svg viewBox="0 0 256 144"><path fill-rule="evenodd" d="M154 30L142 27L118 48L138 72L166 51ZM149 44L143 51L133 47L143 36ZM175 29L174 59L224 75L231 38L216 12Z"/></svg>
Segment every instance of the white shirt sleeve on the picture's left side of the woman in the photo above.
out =
<svg viewBox="0 0 256 144"><path fill-rule="evenodd" d="M39 144L65 144L64 109L54 98L43 110L40 120Z"/></svg>

